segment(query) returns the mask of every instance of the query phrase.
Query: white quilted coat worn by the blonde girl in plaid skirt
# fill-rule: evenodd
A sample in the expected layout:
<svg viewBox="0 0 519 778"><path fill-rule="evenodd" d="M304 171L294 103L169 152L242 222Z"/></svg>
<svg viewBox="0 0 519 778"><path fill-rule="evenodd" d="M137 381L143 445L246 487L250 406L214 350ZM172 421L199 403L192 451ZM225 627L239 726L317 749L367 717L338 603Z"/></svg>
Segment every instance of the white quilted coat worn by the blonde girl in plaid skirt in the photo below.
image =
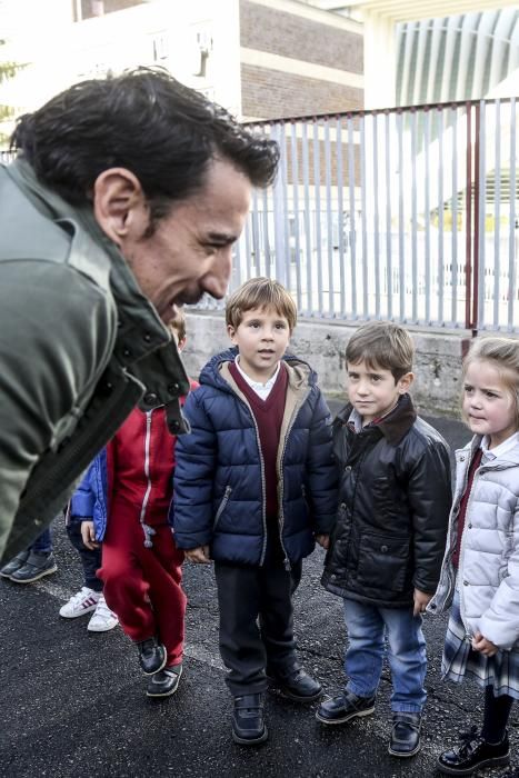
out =
<svg viewBox="0 0 519 778"><path fill-rule="evenodd" d="M475 436L456 451L456 488L440 582L428 606L441 612L452 601L452 551L460 499L467 485ZM501 649L519 650L519 442L493 460L483 458L467 505L458 569L460 612L467 634L481 632Z"/></svg>

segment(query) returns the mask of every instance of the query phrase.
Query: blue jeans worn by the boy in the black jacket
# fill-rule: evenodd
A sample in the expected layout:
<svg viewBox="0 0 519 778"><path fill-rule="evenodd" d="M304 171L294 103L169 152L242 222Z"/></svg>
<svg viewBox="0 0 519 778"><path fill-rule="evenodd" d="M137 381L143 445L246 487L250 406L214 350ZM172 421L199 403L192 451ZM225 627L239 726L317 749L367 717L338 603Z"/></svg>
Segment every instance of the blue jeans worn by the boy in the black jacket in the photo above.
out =
<svg viewBox="0 0 519 778"><path fill-rule="evenodd" d="M412 608L379 608L345 598L345 620L349 646L345 669L347 690L359 697L372 697L382 674L386 654L391 669L391 710L421 712L427 694L423 680L427 670L426 639L421 616Z"/></svg>

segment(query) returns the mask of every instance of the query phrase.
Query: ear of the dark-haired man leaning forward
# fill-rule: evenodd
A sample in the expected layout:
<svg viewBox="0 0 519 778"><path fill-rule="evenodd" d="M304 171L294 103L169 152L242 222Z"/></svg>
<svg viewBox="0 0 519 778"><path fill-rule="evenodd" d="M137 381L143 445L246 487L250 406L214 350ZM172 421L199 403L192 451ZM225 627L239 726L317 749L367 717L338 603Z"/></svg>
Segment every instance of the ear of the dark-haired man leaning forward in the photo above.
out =
<svg viewBox="0 0 519 778"><path fill-rule="evenodd" d="M150 222L144 192L126 168L109 168L93 184L93 216L99 227L121 247L128 237L141 238Z"/></svg>

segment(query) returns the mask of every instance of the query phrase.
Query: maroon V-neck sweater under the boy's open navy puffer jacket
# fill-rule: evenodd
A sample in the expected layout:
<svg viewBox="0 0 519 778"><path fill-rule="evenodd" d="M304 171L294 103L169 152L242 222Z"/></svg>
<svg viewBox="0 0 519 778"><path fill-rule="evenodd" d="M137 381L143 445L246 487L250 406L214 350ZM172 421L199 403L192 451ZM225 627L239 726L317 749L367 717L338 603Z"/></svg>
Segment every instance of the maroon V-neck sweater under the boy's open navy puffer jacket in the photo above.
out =
<svg viewBox="0 0 519 778"><path fill-rule="evenodd" d="M281 422L285 413L288 372L281 363L276 383L266 400L262 400L247 383L234 362L230 362L229 372L237 382L238 388L247 397L252 408L256 423L258 425L265 465L267 517L275 518L278 516L278 473L276 472L276 459L279 448L279 433L281 431Z"/></svg>

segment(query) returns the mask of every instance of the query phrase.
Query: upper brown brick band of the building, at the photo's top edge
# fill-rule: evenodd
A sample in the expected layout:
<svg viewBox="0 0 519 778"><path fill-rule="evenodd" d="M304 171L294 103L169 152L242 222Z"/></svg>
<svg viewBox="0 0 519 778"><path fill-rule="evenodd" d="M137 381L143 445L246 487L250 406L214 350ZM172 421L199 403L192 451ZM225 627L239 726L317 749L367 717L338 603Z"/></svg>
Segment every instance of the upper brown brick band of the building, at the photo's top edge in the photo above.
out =
<svg viewBox="0 0 519 778"><path fill-rule="evenodd" d="M363 72L361 34L249 0L240 2L240 44L352 73Z"/></svg>

